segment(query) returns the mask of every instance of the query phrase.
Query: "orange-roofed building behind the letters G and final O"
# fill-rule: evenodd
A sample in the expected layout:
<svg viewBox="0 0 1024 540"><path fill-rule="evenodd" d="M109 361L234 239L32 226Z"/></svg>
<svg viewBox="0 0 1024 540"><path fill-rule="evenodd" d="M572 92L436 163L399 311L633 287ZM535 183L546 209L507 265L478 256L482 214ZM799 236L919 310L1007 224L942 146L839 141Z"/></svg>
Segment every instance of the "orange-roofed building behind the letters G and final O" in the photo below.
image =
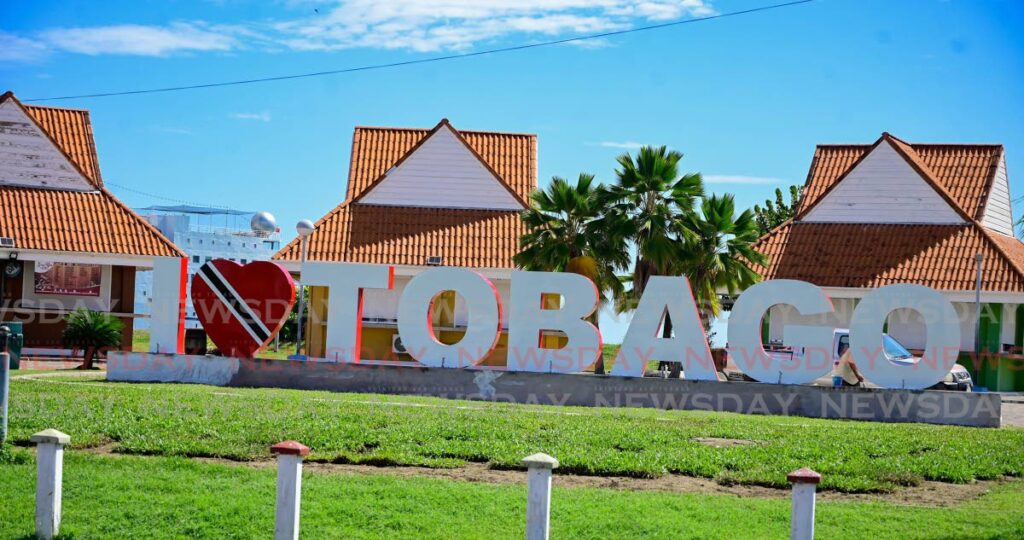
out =
<svg viewBox="0 0 1024 540"><path fill-rule="evenodd" d="M975 293L982 256L981 348L1024 346L1024 243L1014 236L1005 150L999 144L922 144L889 133L872 144L822 144L814 153L793 219L762 237L766 280L802 280L822 287L849 325L853 307L872 288L913 283L942 291L961 316L962 350L975 350ZM768 337L786 324L823 322L775 306ZM890 315L887 331L906 346L925 345L921 316ZM965 363L976 384L1024 388L1019 361Z"/></svg>

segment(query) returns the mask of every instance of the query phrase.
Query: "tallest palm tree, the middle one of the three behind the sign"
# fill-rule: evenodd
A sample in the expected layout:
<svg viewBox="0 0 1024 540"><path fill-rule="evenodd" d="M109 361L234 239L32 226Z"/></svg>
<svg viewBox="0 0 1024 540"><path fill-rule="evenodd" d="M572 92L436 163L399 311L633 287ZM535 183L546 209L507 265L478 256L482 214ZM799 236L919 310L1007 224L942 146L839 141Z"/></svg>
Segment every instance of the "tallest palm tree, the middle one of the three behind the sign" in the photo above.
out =
<svg viewBox="0 0 1024 540"><path fill-rule="evenodd" d="M693 205L703 196L699 173L679 175L683 155L665 147L643 147L636 159L618 157L617 183L608 189L609 220L625 231L636 248L630 301L631 307L643 295L651 276L679 274L679 243L693 235L688 229ZM632 304L632 305L630 305ZM663 335L672 335L666 320Z"/></svg>

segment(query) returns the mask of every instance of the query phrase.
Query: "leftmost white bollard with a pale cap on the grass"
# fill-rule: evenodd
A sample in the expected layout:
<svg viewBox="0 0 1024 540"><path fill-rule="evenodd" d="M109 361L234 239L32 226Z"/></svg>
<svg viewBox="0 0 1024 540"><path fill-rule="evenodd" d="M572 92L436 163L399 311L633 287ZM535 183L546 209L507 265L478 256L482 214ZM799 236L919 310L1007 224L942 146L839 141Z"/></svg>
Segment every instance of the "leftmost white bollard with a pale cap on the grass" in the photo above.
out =
<svg viewBox="0 0 1024 540"><path fill-rule="evenodd" d="M36 450L36 537L50 540L60 530L60 488L63 482L63 447L71 438L56 429L30 439Z"/></svg>

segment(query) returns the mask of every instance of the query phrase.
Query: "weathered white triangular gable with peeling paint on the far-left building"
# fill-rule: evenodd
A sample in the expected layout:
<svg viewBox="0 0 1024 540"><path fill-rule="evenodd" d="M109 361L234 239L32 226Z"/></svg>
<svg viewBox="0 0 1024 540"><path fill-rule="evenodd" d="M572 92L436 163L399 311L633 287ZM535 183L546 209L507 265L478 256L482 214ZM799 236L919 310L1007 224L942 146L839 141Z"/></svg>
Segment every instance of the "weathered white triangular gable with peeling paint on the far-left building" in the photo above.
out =
<svg viewBox="0 0 1024 540"><path fill-rule="evenodd" d="M0 185L71 192L96 190L9 92L0 96Z"/></svg>

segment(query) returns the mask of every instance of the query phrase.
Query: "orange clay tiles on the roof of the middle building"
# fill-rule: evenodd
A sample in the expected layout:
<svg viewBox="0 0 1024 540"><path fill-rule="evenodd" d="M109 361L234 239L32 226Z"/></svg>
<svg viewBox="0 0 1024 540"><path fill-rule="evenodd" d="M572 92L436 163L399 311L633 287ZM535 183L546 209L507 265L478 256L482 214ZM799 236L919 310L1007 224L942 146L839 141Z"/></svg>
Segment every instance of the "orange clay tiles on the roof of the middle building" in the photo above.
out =
<svg viewBox="0 0 1024 540"><path fill-rule="evenodd" d="M508 210L414 208L352 203L424 139L431 129L356 127L345 201L316 222L310 260L424 265L513 267L525 227ZM457 131L509 190L523 200L537 189L537 136ZM292 241L274 259L298 260Z"/></svg>

